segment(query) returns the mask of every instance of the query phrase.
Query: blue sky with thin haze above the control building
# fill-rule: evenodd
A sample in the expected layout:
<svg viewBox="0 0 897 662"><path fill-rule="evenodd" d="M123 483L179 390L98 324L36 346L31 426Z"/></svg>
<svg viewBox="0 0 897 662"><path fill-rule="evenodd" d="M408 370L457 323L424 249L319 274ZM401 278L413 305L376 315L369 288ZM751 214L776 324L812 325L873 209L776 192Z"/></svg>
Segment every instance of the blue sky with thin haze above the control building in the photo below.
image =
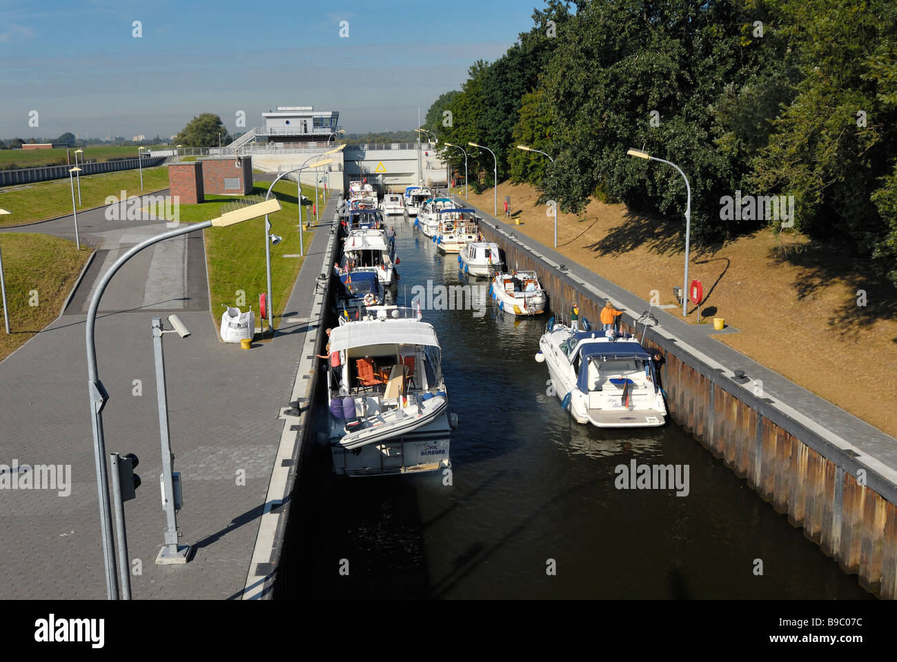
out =
<svg viewBox="0 0 897 662"><path fill-rule="evenodd" d="M167 138L201 112L242 131L238 110L249 128L277 105L339 110L347 133L409 129L543 5L0 0L0 137Z"/></svg>

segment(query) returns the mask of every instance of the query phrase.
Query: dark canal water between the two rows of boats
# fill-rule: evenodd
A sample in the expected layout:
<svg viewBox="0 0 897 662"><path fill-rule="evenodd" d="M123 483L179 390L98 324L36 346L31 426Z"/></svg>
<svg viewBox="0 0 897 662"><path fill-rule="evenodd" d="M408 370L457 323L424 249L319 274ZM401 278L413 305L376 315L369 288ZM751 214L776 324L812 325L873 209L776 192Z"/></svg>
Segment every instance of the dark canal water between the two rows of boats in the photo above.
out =
<svg viewBox="0 0 897 662"><path fill-rule="evenodd" d="M423 310L440 338L452 433L442 474L348 478L326 447L297 486L284 597L870 597L674 423L579 425L534 356L548 316L518 319L392 217L401 279L482 285L476 310ZM477 300L478 301L478 300ZM621 490L614 468L680 465L687 496Z"/></svg>

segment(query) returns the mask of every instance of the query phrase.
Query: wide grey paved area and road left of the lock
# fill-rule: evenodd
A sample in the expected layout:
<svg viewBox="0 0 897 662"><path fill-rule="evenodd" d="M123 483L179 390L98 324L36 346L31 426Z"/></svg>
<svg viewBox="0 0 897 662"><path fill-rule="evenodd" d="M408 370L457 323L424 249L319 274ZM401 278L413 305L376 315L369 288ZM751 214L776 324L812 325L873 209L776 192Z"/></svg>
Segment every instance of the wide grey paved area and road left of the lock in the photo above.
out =
<svg viewBox="0 0 897 662"><path fill-rule="evenodd" d="M65 314L0 362L0 464L71 466L65 495L0 489L0 598L106 597L83 322L96 278L121 248L164 229L131 223L107 221L102 210L79 214L89 230L82 236L100 252ZM10 231L63 234L65 225L60 219ZM307 326L285 322L272 343L250 351L219 342L209 321L202 236L188 236L131 260L110 283L100 305L108 312L97 320L100 379L109 391L106 449L140 458L143 484L125 504L135 598L241 596L283 431L278 414L290 406ZM327 231L317 232L309 255L322 255L326 244ZM308 317L305 301L319 271L317 258L303 264L284 318ZM184 484L180 544L196 547L180 567L154 562L165 518L150 325L165 311L176 311L192 332L164 336L171 448Z"/></svg>

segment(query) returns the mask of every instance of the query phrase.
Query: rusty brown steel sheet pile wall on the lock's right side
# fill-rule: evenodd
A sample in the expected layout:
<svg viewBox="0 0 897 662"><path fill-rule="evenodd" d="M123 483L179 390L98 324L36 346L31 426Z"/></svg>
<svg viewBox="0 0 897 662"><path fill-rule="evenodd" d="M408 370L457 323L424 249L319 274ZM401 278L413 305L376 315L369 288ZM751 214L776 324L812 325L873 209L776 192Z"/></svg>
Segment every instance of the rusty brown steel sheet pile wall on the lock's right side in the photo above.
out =
<svg viewBox="0 0 897 662"><path fill-rule="evenodd" d="M573 301L580 315L598 322L604 300L570 274L544 262L489 223L483 238L504 251L506 264L539 274L553 315L569 318ZM635 333L623 316L621 329ZM713 453L795 527L856 573L860 586L879 597L897 597L897 485L859 466L851 451L839 449L814 431L771 407L675 341L650 329L646 348L664 357L660 374L673 420ZM866 477L860 484L859 472Z"/></svg>

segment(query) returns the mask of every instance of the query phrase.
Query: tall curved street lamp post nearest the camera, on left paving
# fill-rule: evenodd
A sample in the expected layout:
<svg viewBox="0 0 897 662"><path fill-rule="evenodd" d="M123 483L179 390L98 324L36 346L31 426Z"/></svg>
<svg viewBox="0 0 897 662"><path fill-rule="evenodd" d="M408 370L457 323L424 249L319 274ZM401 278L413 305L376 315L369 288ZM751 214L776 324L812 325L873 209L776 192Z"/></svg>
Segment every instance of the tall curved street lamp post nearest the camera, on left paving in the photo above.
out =
<svg viewBox="0 0 897 662"><path fill-rule="evenodd" d="M129 248L127 252L116 260L115 264L109 267L109 271L102 275L97 289L93 292L90 308L87 311L87 318L84 320L85 339L87 344L87 384L89 388L91 400L91 427L93 431L93 460L94 468L97 474L97 495L100 501L100 530L102 534L103 558L106 567L106 594L110 600L118 600L118 581L116 579L116 560L115 547L112 543L112 519L109 507L109 475L106 470L106 440L103 435L103 416L102 411L109 400L109 394L103 388L100 381L99 370L97 367L97 349L94 341L94 327L97 320L97 309L100 308L100 298L109 281L112 279L118 269L121 268L131 257L134 257L144 248L150 247L162 240L172 237L178 237L187 232L195 232L205 230L210 227L226 227L234 223L248 221L257 218L263 213L275 212L280 209L280 203L277 200L266 201L258 205L250 205L233 212L224 213L222 216L187 225L183 228L177 228L170 232L164 232L148 240L144 240L136 246Z"/></svg>

